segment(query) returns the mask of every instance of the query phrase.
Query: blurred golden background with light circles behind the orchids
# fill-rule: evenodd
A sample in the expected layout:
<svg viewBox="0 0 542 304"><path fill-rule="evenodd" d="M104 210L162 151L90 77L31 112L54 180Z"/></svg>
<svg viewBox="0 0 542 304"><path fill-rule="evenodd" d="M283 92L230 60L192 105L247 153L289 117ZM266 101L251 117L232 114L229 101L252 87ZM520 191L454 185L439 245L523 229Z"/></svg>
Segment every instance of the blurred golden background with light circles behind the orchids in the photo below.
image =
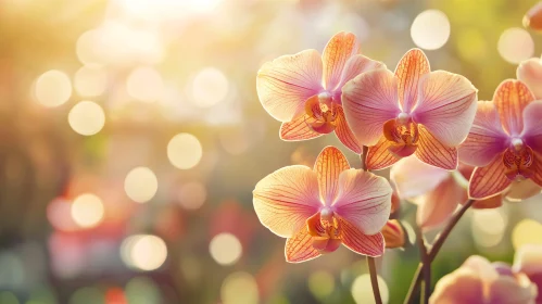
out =
<svg viewBox="0 0 542 304"><path fill-rule="evenodd" d="M363 257L287 264L255 216L254 185L275 169L328 144L360 165L333 136L280 141L259 67L349 30L390 68L419 47L491 99L541 53L521 26L535 2L1 0L0 303L371 303ZM542 243L541 203L469 211L434 278ZM414 215L403 203L411 240ZM417 263L408 246L378 261L388 303Z"/></svg>

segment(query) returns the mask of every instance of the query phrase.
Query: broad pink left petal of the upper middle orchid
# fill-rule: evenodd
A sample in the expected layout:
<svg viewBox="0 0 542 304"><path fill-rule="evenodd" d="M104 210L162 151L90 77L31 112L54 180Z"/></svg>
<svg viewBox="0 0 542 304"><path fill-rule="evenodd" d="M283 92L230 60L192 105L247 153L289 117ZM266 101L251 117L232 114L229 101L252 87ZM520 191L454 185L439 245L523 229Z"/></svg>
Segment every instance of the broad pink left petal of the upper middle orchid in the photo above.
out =
<svg viewBox="0 0 542 304"><path fill-rule="evenodd" d="M375 145L382 136L383 124L401 112L396 78L386 68L363 73L342 88L342 106L357 140Z"/></svg>

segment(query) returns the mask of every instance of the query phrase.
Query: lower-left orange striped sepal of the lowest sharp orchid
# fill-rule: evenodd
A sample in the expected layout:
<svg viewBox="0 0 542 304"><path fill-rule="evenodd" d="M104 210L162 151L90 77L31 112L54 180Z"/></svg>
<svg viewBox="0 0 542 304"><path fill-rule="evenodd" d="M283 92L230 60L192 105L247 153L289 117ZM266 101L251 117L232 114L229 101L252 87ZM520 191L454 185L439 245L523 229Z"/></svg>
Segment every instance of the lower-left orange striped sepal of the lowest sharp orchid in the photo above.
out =
<svg viewBox="0 0 542 304"><path fill-rule="evenodd" d="M301 263L316 258L322 254L313 248L313 237L304 227L286 240L285 255L289 263Z"/></svg>

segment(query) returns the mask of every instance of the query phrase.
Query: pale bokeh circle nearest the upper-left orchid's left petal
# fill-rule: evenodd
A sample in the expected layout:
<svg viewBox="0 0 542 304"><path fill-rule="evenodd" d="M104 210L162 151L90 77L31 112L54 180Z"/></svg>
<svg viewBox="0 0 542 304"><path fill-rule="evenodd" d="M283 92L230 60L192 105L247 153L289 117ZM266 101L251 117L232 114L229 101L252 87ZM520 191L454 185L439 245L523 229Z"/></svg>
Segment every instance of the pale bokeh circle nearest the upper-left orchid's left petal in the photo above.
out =
<svg viewBox="0 0 542 304"><path fill-rule="evenodd" d="M224 73L214 67L206 67L193 78L193 102L201 107L213 106L226 98L228 88L228 79Z"/></svg>

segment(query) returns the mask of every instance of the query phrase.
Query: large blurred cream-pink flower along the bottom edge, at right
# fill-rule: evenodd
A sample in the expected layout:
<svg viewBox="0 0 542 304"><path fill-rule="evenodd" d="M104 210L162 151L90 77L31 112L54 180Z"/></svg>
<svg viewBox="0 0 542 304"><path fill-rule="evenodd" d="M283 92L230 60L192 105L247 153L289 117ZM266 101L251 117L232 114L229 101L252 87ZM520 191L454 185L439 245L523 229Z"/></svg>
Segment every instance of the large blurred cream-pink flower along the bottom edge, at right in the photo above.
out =
<svg viewBox="0 0 542 304"><path fill-rule="evenodd" d="M504 263L490 263L472 255L455 271L442 277L429 303L465 304L534 303L537 287L524 274L515 274Z"/></svg>

